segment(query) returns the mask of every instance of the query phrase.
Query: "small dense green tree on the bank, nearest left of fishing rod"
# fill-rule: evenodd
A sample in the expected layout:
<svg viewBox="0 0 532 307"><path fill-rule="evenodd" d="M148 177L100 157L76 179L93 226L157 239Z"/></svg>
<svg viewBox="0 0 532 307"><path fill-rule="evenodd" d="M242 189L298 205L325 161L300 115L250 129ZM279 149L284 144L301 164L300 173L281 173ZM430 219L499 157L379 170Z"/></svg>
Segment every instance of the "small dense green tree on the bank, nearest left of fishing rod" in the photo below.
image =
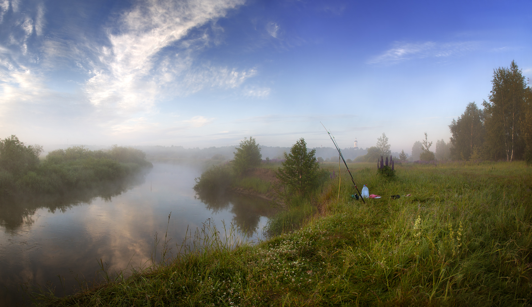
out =
<svg viewBox="0 0 532 307"><path fill-rule="evenodd" d="M307 151L305 140L299 139L290 148L290 153L285 152L285 161L276 172L280 183L300 196L312 190L317 184L320 168L315 152L315 149Z"/></svg>

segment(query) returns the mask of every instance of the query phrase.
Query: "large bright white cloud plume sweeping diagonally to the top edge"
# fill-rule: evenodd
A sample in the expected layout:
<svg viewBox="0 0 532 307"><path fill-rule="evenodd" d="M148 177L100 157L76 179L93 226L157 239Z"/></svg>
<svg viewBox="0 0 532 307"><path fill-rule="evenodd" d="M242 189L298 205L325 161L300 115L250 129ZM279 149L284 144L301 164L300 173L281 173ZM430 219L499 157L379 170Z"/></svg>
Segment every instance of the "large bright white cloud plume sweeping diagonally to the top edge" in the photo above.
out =
<svg viewBox="0 0 532 307"><path fill-rule="evenodd" d="M203 65L194 67L194 51L208 36L192 40L190 30L225 16L243 0L157 1L135 6L121 17L120 28L109 33L109 47L99 49L84 90L91 103L118 112L150 112L165 94L187 95L204 87L235 88L255 74ZM184 48L169 54L170 46Z"/></svg>

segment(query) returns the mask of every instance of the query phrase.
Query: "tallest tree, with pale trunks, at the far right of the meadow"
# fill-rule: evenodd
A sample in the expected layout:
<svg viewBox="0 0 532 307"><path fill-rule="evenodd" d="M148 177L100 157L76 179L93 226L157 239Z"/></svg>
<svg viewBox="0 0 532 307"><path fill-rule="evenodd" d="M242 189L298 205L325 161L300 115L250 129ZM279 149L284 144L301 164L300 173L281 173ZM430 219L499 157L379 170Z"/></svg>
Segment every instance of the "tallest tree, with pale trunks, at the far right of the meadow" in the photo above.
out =
<svg viewBox="0 0 532 307"><path fill-rule="evenodd" d="M483 103L491 158L513 161L522 156L525 142L520 123L525 117L526 96L525 77L515 61L509 68L493 70L489 103L486 100Z"/></svg>

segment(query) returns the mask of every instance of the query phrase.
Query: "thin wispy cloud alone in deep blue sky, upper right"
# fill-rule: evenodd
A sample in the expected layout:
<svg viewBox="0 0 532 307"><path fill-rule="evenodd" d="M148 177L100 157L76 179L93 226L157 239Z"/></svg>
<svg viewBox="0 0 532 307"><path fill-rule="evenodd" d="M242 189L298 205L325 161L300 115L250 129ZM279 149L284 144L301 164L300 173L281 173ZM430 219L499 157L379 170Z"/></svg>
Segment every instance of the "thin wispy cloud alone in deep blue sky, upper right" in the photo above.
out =
<svg viewBox="0 0 532 307"><path fill-rule="evenodd" d="M427 57L458 56L479 48L479 41L445 42L426 41L420 43L395 42L394 47L383 54L369 59L369 64L399 63L409 59Z"/></svg>

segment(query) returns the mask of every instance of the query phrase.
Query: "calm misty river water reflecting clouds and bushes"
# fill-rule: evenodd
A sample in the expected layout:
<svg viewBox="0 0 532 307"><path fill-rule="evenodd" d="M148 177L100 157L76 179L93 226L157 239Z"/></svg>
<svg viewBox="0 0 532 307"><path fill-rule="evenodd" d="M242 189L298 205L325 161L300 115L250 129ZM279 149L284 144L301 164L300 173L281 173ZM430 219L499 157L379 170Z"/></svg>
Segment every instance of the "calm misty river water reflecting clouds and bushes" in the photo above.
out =
<svg viewBox="0 0 532 307"><path fill-rule="evenodd" d="M173 251L187 227L201 228L208 218L218 228L222 221L234 224L246 240L262 238L275 214L268 201L234 194L200 200L192 189L200 174L190 166L154 164L135 180L96 192L0 200L0 305L23 303L20 284L28 281L52 282L58 296L63 289L72 293L74 277L92 281L100 259L110 271L144 265L170 212Z"/></svg>

